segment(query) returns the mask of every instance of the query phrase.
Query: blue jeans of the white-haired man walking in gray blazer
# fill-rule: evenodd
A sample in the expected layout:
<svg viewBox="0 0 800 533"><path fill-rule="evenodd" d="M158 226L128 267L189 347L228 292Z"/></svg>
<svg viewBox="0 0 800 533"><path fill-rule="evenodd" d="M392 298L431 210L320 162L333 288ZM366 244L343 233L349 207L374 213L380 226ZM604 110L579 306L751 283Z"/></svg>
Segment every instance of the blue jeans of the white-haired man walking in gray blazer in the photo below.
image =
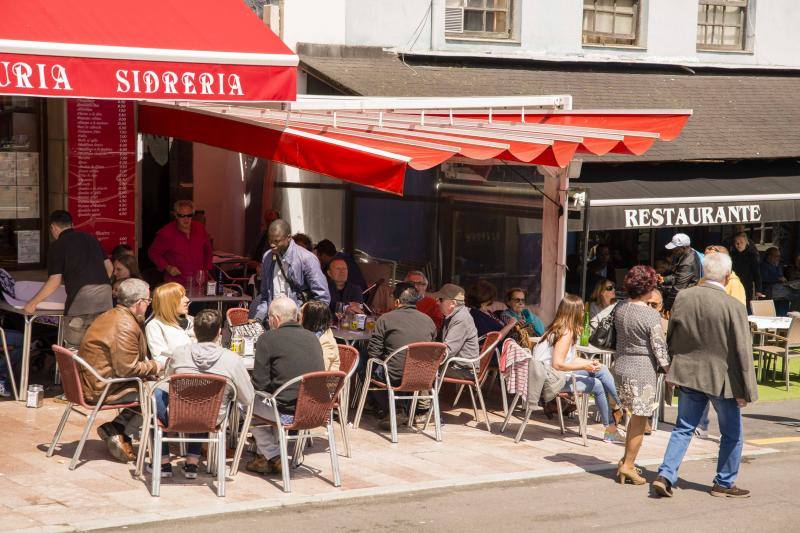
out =
<svg viewBox="0 0 800 533"><path fill-rule="evenodd" d="M692 441L694 430L703 416L703 409L708 402L714 405L719 419L719 457L717 458L717 475L714 483L723 487L732 487L739 474L742 460L744 433L742 431L742 414L736 400L720 398L704 392L681 387L678 389L678 419L672 434L669 436L664 462L658 469L658 475L666 478L673 485L678 480L678 468L681 466L686 449Z"/></svg>

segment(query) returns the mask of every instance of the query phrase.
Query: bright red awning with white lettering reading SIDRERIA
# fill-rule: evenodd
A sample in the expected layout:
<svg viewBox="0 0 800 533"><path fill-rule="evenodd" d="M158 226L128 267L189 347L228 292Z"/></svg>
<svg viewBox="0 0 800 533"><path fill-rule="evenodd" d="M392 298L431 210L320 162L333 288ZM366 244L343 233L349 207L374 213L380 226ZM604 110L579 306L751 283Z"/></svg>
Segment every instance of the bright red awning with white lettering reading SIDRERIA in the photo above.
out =
<svg viewBox="0 0 800 533"><path fill-rule="evenodd" d="M297 63L241 0L0 0L0 94L288 101Z"/></svg>

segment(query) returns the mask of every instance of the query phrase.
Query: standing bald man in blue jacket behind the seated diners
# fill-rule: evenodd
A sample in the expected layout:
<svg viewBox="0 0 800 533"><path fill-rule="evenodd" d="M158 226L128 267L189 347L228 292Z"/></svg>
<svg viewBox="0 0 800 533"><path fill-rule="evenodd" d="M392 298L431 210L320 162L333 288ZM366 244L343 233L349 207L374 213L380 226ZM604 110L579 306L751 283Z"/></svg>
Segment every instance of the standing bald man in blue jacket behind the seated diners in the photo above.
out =
<svg viewBox="0 0 800 533"><path fill-rule="evenodd" d="M285 296L301 306L309 300L330 304L328 281L316 256L292 240L292 230L283 219L274 220L267 230L269 250L261 265L261 303L256 320L264 322L270 304Z"/></svg>

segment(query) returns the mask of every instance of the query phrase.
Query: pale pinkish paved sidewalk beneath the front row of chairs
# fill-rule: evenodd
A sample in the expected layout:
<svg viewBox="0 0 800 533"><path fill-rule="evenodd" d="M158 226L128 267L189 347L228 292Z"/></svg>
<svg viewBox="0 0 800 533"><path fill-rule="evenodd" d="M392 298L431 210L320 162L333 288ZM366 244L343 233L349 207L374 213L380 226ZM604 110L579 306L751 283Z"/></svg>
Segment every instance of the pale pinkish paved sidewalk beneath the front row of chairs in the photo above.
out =
<svg viewBox="0 0 800 533"><path fill-rule="evenodd" d="M447 409L449 404L444 402ZM342 486L332 485L326 443L315 439L305 463L292 472L292 494L285 494L280 478L252 475L242 468L227 484L227 496L217 498L212 478L204 474L185 480L180 468L175 477L163 480L161 497L150 496L149 477L133 477L133 465L113 462L105 445L90 434L83 452L84 462L70 472L69 457L75 450L85 419L73 414L64 430L61 450L52 458L45 451L63 411L62 404L46 400L40 409L27 409L17 402L0 403L0 530L33 529L72 531L119 527L148 521L163 521L209 514L241 512L309 502L396 494L433 488L498 481L531 479L616 468L622 446L600 439L602 427L590 424L588 447L570 427L562 437L557 421L535 413L520 444L514 443L517 422L504 435L497 432L502 418L491 415L494 433L475 427L471 410L446 412L443 441L430 435L404 430L392 445L377 433L369 419L351 431L352 459L344 457L337 427ZM105 421L113 417L109 413ZM101 423L99 422L99 423ZM99 424L98 423L98 424ZM669 429L670 426L662 426ZM642 465L660 462L669 433L654 432L646 438L639 456ZM770 449L746 445L746 455L769 453ZM695 439L687 460L715 456L717 443ZM173 462L175 465L176 462Z"/></svg>

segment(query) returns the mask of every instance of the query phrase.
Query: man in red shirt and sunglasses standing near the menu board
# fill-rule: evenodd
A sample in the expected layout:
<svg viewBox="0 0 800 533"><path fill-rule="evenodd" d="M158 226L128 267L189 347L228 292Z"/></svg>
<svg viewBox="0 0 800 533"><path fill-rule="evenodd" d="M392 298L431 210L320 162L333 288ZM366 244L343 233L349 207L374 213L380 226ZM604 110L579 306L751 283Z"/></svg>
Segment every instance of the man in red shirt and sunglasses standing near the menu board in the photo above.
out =
<svg viewBox="0 0 800 533"><path fill-rule="evenodd" d="M175 222L158 230L147 251L156 268L164 272L164 281L186 286L189 279L197 279L198 272L211 270L211 241L205 227L192 220L194 214L190 200L175 202Z"/></svg>

